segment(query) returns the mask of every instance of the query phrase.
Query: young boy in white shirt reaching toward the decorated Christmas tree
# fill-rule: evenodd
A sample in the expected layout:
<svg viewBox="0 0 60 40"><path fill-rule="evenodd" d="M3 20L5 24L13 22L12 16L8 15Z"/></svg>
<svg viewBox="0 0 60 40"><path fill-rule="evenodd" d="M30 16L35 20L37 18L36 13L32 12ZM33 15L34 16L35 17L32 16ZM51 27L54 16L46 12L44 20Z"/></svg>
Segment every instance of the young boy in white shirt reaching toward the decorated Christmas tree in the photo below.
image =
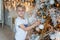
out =
<svg viewBox="0 0 60 40"><path fill-rule="evenodd" d="M15 20L15 40L25 40L27 31L31 30L32 28L36 27L40 24L40 21L36 21L31 26L28 26L28 21L24 18L25 15L25 7L22 5L18 5L16 7L17 11L17 18Z"/></svg>

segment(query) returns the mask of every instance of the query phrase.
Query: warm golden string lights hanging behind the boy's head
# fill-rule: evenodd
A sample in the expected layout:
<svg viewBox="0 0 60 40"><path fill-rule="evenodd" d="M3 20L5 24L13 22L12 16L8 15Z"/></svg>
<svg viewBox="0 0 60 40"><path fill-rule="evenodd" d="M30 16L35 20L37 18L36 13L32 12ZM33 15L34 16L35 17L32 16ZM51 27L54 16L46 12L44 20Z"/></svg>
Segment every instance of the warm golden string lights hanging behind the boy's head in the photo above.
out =
<svg viewBox="0 0 60 40"><path fill-rule="evenodd" d="M4 0L4 2L5 1L6 0ZM34 0L25 0L24 2L22 2L22 0L8 0L8 1L6 1L7 3L5 2L5 4L6 4L5 7L8 6L8 10L10 9L10 7L15 9L16 5L21 4L26 7L26 11L28 12L33 9L32 5L31 5L33 1Z"/></svg>

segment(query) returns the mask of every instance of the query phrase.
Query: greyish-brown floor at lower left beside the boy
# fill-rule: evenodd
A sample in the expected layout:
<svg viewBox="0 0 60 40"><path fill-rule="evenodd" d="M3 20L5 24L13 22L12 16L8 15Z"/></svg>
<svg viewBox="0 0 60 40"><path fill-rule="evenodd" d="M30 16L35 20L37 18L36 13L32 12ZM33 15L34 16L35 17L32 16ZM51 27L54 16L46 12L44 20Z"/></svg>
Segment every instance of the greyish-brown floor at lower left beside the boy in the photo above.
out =
<svg viewBox="0 0 60 40"><path fill-rule="evenodd" d="M0 40L14 40L13 33L7 26L4 26L2 29L0 25Z"/></svg>

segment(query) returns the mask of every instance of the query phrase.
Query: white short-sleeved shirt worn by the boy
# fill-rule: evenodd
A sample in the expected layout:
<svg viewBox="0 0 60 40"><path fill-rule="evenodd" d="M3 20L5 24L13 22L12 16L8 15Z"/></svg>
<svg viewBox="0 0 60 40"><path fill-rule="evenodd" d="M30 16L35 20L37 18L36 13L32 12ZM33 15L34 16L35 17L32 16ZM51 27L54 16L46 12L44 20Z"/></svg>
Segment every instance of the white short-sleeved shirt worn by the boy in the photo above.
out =
<svg viewBox="0 0 60 40"><path fill-rule="evenodd" d="M24 31L19 27L20 24L28 24L26 19L21 19L20 17L17 17L15 20L15 28L16 28L16 33L15 33L15 39L16 40L25 40L27 31Z"/></svg>

